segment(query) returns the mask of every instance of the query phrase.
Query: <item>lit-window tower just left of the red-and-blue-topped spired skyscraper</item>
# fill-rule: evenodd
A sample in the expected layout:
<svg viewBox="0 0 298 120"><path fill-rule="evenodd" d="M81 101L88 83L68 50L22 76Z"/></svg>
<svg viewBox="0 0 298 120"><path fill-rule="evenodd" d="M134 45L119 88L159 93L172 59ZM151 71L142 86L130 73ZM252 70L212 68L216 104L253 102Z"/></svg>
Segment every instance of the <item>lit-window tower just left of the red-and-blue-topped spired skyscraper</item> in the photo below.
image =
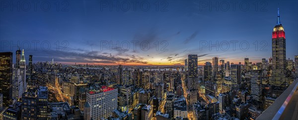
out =
<svg viewBox="0 0 298 120"><path fill-rule="evenodd" d="M262 70L251 72L251 97L253 100L262 100Z"/></svg>

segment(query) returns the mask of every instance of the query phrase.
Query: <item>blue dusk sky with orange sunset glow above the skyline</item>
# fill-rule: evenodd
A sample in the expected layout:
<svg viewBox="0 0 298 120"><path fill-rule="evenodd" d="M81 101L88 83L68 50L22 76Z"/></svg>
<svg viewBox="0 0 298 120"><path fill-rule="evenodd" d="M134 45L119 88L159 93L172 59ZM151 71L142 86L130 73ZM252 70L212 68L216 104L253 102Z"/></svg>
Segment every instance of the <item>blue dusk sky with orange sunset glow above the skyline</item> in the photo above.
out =
<svg viewBox="0 0 298 120"><path fill-rule="evenodd" d="M54 58L54 62L70 64L182 65L189 54L197 54L200 65L213 57L242 64L245 57L260 62L271 56L278 7L287 59L298 55L297 0L237 1L234 9L233 1L221 0L147 0L136 3L136 9L131 0L119 0L118 5L111 1L116 7L110 1L49 0L48 10L46 3L43 8L37 3L35 9L31 0L20 2L19 7L11 6L10 0L0 2L0 52L13 52L13 62L18 42L27 63L33 55L33 62ZM110 50L107 43L117 41L127 51ZM138 41L135 50L134 41ZM235 50L233 41L238 41ZM210 43L216 46L212 50Z"/></svg>

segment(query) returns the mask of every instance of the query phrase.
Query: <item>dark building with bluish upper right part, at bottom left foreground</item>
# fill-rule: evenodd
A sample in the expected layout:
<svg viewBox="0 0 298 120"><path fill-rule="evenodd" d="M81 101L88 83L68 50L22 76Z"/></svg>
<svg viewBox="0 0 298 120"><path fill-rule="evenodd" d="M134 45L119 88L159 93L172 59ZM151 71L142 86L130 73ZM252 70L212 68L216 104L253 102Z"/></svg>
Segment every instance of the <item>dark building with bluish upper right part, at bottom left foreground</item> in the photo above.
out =
<svg viewBox="0 0 298 120"><path fill-rule="evenodd" d="M48 88L28 89L22 95L22 120L48 119Z"/></svg>

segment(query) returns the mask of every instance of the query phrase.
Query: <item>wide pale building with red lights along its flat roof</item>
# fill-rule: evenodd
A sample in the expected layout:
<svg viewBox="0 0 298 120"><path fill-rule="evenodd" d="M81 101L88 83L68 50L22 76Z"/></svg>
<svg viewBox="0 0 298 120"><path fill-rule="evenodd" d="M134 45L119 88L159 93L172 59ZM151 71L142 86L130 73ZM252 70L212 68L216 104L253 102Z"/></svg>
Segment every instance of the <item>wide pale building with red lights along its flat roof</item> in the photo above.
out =
<svg viewBox="0 0 298 120"><path fill-rule="evenodd" d="M95 87L87 91L84 106L84 120L107 119L117 109L118 89L111 87ZM99 99L100 98L100 99Z"/></svg>

